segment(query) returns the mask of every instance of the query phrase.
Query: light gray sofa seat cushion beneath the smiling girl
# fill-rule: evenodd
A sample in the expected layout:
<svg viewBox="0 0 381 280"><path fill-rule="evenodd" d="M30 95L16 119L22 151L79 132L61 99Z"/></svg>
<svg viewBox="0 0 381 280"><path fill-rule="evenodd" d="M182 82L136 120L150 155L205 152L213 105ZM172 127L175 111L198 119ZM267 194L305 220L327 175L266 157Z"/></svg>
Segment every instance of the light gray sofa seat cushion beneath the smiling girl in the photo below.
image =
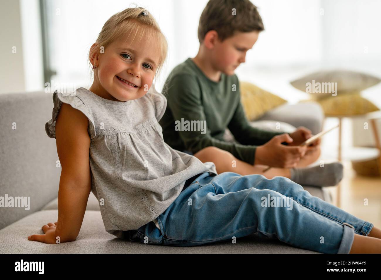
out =
<svg viewBox="0 0 381 280"><path fill-rule="evenodd" d="M57 210L35 212L0 230L0 253L318 253L292 247L275 238L251 234L233 244L211 243L195 247L144 244L118 239L104 229L101 212L86 211L81 230L74 242L45 244L28 240L32 234L43 234L42 226L57 221Z"/></svg>

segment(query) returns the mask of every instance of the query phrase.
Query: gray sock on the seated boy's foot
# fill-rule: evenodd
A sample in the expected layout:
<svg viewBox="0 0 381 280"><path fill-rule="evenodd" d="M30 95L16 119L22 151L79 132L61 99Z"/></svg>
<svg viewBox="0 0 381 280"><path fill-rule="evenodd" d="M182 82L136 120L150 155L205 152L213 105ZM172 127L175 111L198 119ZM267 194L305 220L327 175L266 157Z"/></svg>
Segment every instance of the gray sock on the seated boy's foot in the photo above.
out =
<svg viewBox="0 0 381 280"><path fill-rule="evenodd" d="M343 178L343 164L333 162L305 168L290 169L291 181L307 186L336 186Z"/></svg>

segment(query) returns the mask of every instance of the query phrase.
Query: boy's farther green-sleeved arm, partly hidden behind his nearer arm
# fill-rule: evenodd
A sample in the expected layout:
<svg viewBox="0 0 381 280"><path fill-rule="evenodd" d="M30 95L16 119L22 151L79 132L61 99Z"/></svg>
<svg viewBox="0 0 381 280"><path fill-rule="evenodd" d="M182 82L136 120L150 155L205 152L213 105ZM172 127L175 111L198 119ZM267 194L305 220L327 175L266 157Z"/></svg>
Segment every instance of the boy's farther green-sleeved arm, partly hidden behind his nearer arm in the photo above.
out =
<svg viewBox="0 0 381 280"><path fill-rule="evenodd" d="M227 127L234 135L234 138L243 145L263 145L275 135L284 133L281 131L271 132L252 127L246 118L241 102L238 103Z"/></svg>

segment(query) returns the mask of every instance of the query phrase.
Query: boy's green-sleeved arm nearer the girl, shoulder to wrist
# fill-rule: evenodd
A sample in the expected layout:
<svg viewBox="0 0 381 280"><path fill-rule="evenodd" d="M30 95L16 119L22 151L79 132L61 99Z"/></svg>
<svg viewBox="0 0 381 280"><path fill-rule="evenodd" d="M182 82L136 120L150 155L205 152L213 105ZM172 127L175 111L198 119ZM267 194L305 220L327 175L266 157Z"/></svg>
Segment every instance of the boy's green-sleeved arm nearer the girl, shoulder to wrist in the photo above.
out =
<svg viewBox="0 0 381 280"><path fill-rule="evenodd" d="M197 80L191 75L177 75L172 78L168 87L168 106L174 120L206 121L204 108L201 102L201 92ZM197 153L208 146L229 151L238 159L253 164L256 146L229 143L213 138L210 130L205 134L200 131L179 131L180 137L187 150Z"/></svg>

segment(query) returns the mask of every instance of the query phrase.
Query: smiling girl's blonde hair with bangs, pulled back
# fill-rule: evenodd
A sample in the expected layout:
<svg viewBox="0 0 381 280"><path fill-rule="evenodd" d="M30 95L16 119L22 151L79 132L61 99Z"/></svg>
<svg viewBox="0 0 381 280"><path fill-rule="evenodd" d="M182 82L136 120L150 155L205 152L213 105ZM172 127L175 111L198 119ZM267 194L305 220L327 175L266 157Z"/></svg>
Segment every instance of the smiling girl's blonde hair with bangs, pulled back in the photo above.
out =
<svg viewBox="0 0 381 280"><path fill-rule="evenodd" d="M114 14L103 25L101 32L96 39L95 45L91 46L89 51L89 63L92 67L90 58L96 53L100 53L101 47L106 49L114 40L121 36L132 35L135 40L143 37L154 40L153 42L160 50L160 60L156 74L160 72L168 52L168 43L155 18L144 8L127 8L124 11ZM94 72L95 78L96 72Z"/></svg>

